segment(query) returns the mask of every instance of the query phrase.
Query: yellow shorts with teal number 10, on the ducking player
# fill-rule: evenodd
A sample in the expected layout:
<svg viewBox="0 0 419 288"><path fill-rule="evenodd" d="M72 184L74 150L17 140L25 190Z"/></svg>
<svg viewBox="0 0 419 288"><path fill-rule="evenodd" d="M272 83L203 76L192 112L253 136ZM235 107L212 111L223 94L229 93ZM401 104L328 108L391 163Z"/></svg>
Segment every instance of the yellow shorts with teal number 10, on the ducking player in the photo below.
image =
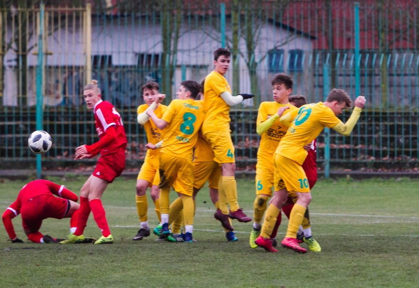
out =
<svg viewBox="0 0 419 288"><path fill-rule="evenodd" d="M280 188L285 184L291 196L296 196L295 192L310 192L307 176L299 163L275 154L274 166L275 186L278 185L278 188ZM277 190L275 189L275 191Z"/></svg>

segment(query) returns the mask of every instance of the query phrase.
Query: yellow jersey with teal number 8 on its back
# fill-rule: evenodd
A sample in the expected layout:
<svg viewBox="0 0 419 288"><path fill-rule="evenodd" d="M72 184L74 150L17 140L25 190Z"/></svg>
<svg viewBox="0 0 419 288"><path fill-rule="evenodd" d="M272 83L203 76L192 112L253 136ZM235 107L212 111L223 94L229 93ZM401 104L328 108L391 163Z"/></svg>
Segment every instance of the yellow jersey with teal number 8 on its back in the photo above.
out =
<svg viewBox="0 0 419 288"><path fill-rule="evenodd" d="M172 100L161 118L168 126L160 153L192 160L193 147L204 117L202 103L194 99Z"/></svg>

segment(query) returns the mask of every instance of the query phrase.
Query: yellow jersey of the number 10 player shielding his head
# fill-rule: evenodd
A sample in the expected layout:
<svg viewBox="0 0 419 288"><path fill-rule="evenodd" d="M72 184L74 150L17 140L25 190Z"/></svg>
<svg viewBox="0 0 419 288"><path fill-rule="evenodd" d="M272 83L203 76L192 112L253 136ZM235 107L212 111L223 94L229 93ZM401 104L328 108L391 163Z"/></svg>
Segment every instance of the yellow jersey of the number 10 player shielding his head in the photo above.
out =
<svg viewBox="0 0 419 288"><path fill-rule="evenodd" d="M292 159L300 165L307 157L304 145L316 139L325 127L332 128L341 123L323 102L302 105L298 110L291 111L290 116L293 120L275 154Z"/></svg>

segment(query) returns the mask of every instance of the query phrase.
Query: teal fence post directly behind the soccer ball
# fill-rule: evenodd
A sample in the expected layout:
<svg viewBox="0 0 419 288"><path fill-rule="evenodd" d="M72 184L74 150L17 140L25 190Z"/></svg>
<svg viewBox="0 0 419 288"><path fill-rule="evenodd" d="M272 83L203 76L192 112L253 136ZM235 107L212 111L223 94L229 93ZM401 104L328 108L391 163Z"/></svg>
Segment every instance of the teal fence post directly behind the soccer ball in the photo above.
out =
<svg viewBox="0 0 419 288"><path fill-rule="evenodd" d="M43 81L43 61L44 51L42 47L42 33L44 26L44 10L45 5L41 1L39 10L39 35L38 35L38 64L36 66L36 130L43 129L43 95L42 95L42 81ZM41 155L36 155L36 178L41 178L42 159Z"/></svg>

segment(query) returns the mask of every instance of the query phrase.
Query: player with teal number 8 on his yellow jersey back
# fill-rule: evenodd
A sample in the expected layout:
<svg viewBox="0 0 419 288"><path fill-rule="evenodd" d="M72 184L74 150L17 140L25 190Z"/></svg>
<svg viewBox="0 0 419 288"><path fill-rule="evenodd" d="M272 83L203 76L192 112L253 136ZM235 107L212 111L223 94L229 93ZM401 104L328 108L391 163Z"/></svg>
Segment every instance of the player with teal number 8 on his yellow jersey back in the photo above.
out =
<svg viewBox="0 0 419 288"><path fill-rule="evenodd" d="M154 111L147 111L158 128L166 128L160 149L161 236L163 238L170 236L169 224L178 216L169 208L169 192L173 187L182 201L185 242L192 242L194 218L192 155L205 116L204 107L195 101L199 91L200 85L197 82L183 81L176 94L178 99L169 104L161 119Z"/></svg>

